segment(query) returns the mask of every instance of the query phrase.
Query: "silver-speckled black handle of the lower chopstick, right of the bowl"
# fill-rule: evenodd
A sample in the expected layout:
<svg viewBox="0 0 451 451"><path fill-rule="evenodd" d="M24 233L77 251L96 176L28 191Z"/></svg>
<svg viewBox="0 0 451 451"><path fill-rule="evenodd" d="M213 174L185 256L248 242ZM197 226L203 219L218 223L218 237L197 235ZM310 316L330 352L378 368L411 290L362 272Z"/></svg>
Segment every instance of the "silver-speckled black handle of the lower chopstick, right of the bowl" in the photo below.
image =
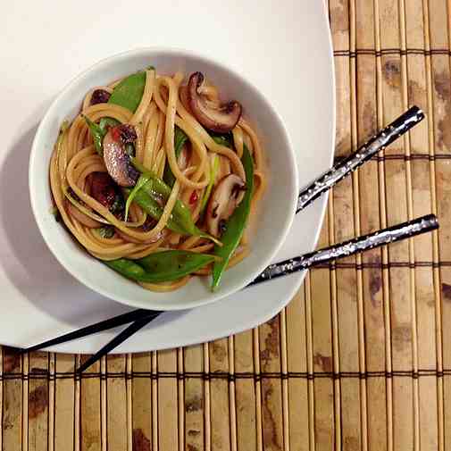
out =
<svg viewBox="0 0 451 451"><path fill-rule="evenodd" d="M280 263L270 264L249 285L286 276L296 271L303 271L320 263L327 263L337 258L363 252L373 247L393 243L404 238L411 238L420 233L438 229L438 220L434 214L428 214L413 221L403 222L388 229L379 230L363 237L350 239L344 243L326 247L309 254L290 258Z"/></svg>

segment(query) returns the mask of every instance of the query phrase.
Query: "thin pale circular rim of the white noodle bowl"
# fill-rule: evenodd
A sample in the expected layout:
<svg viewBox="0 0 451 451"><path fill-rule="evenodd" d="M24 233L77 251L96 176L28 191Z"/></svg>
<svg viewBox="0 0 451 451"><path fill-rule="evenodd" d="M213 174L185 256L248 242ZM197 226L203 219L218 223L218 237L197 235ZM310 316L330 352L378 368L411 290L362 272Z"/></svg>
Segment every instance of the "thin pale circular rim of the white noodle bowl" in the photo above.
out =
<svg viewBox="0 0 451 451"><path fill-rule="evenodd" d="M164 303L164 301L155 302L155 300L149 300L149 304L145 305L143 302L135 299L130 299L126 296L117 295L112 291L105 290L104 288L99 288L96 286L96 284L91 283L91 281L87 280L87 278L82 274L79 273L79 271L75 271L71 264L65 262L62 258L61 253L58 252L58 246L54 245L54 242L50 239L48 233L46 232L46 225L45 221L42 220L43 213L39 211L38 209L38 194L35 193L33 188L37 184L37 177L38 174L33 171L33 168L36 166L36 160L38 157L38 148L42 146L43 142L43 134L45 129L46 122L50 121L50 119L54 116L54 110L57 106L57 104L60 102L60 99L62 96L64 96L68 91L71 90L73 86L75 86L77 83L79 83L80 80L86 78L91 72L95 72L99 70L103 65L107 65L109 63L117 63L121 61L126 61L127 59L138 56L140 54L169 54L173 56L180 56L184 58L196 58L201 61L205 61L206 63L210 63L217 67L219 67L221 70L225 72L230 72L233 74L234 77L239 79L240 83L243 84L243 86L250 91L253 91L256 96L259 96L261 100L263 100L263 104L265 104L273 114L274 118L277 121L277 125L280 128L287 146L288 146L288 163L291 167L290 176L292 178L292 183L294 184L295 189L291 192L291 197L288 199L289 204L293 207L291 211L288 211L288 214L285 218L285 221L283 221L283 227L278 232L279 233L279 240L277 242L277 245L273 247L271 253L269 253L266 257L265 262L260 265L255 265L254 271L249 271L249 275L238 284L235 284L233 287L231 287L229 290L223 291L223 292L211 292L209 296L203 297L201 300L196 301L196 299L191 300L190 302L185 303L179 303L177 305L167 305ZM295 218L296 215L296 201L297 196L299 192L299 175L297 171L297 164L296 164L296 155L294 152L294 147L288 132L288 129L285 125L285 122L282 120L280 113L272 106L270 100L263 94L263 92L256 88L254 84L252 84L249 80L247 80L245 77L243 77L238 71L231 68L227 63L221 61L221 59L218 59L216 57L212 57L210 55L206 54L199 54L192 50L188 50L182 47L166 47L166 46L142 46L138 48L129 49L127 51L121 52L119 54L113 54L110 56L107 56L100 61L92 64L84 71L81 71L78 75L76 75L74 78L72 78L64 87L60 90L60 92L54 97L54 100L49 105L49 107L46 110L46 113L44 114L42 120L39 122L37 132L35 134L35 137L33 138L33 143L31 145L31 151L29 155L29 198L30 198L30 204L31 204L31 210L33 212L35 221L38 224L38 230L44 239L46 246L49 248L50 252L54 255L58 263L60 263L65 271L68 271L71 276L75 280L79 280L80 283L85 285L86 287L92 289L96 293L108 297L110 299L113 299L116 302L119 302L123 305L129 305L132 307L137 308L146 308L146 309L161 309L164 311L172 311L172 310L185 310L188 308L194 308L201 305L208 305L211 304L217 300L220 300L223 297L233 295L238 290L245 288L246 285L252 281L256 274L263 271L263 269L266 267L267 264L271 262L271 260L277 255L277 253L280 251L280 247L283 245L285 240L287 239L288 232L291 228L291 224ZM252 274L251 274L252 272ZM144 289L144 288L142 288Z"/></svg>

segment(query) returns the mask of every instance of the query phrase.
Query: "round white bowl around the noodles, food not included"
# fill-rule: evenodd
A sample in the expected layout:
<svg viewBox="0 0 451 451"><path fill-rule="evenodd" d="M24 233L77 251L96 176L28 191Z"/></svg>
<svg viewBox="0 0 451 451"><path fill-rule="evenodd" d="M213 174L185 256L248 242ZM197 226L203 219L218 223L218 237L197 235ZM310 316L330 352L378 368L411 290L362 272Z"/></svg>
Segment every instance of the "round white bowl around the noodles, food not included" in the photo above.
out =
<svg viewBox="0 0 451 451"><path fill-rule="evenodd" d="M170 293L154 293L121 277L78 246L51 213L48 167L61 123L72 120L89 88L104 85L153 64L159 73L202 71L245 109L262 140L269 164L269 186L251 237L251 254L224 274L211 292L210 278L193 278ZM271 262L288 234L296 210L298 180L288 132L268 100L238 73L197 54L165 48L143 48L117 54L84 71L63 89L41 121L29 158L29 194L38 228L54 256L80 282L122 304L155 310L178 310L209 304L228 296L255 278Z"/></svg>

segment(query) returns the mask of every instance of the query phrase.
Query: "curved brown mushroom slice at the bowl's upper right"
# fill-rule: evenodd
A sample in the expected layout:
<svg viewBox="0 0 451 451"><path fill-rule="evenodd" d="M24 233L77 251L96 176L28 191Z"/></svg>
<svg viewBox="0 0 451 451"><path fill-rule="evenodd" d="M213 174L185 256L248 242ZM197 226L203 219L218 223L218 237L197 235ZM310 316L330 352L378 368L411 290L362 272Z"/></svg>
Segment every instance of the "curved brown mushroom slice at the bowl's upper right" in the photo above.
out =
<svg viewBox="0 0 451 451"><path fill-rule="evenodd" d="M226 133L233 129L241 117L242 107L232 100L227 104L215 105L202 94L204 75L195 72L189 77L188 103L192 113L206 129Z"/></svg>

